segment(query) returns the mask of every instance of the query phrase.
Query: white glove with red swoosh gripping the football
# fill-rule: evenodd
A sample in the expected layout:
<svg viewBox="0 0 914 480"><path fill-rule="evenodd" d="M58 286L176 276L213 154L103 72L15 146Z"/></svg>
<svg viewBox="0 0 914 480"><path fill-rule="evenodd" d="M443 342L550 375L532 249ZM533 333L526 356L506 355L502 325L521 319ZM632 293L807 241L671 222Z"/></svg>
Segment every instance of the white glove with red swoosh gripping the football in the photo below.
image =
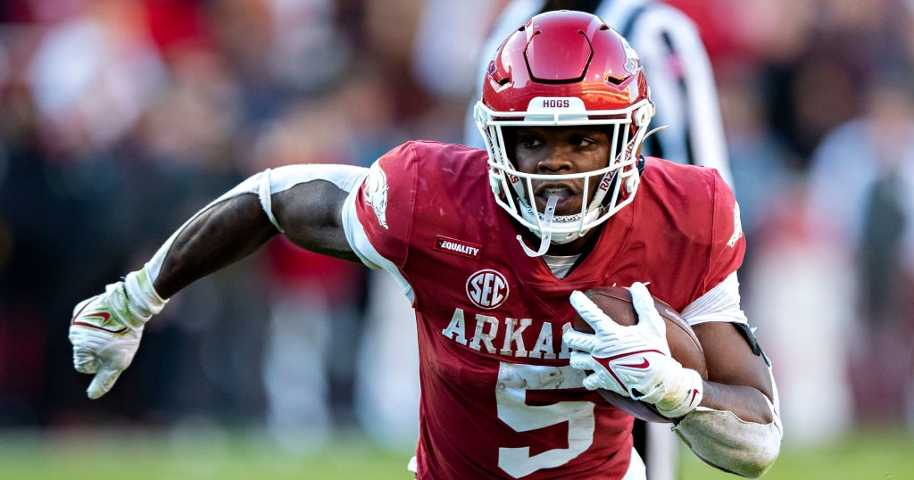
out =
<svg viewBox="0 0 914 480"><path fill-rule="evenodd" d="M638 324L615 323L584 293L571 293L571 305L593 328L593 334L569 329L562 336L571 353L571 367L592 370L587 389L609 389L653 404L664 417L685 416L701 403L704 381L670 356L666 325L643 283L633 283L632 304Z"/></svg>

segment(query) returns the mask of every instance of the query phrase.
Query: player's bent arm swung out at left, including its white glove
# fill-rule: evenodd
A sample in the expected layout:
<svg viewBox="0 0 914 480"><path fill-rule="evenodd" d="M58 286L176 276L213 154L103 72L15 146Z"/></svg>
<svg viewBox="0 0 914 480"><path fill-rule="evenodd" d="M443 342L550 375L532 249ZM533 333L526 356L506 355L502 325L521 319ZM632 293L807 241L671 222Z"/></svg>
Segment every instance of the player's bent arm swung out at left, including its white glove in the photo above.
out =
<svg viewBox="0 0 914 480"><path fill-rule="evenodd" d="M345 165L293 165L251 176L187 220L141 270L80 302L69 340L74 367L94 375L89 397L107 393L130 366L143 326L168 298L280 232L303 248L357 260L341 212L365 173Z"/></svg>

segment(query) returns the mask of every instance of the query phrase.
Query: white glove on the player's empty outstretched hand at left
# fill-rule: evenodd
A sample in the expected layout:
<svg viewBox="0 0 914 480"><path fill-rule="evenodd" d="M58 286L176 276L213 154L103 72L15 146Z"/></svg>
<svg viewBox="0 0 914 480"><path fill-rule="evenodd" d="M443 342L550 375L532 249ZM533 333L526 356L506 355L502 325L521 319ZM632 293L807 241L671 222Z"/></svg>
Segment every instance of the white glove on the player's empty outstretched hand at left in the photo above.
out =
<svg viewBox="0 0 914 480"><path fill-rule="evenodd" d="M162 310L167 300L155 293L146 270L129 273L105 293L83 300L73 309L69 342L73 366L95 374L86 392L98 399L112 389L121 372L130 367L140 347L143 325Z"/></svg>

